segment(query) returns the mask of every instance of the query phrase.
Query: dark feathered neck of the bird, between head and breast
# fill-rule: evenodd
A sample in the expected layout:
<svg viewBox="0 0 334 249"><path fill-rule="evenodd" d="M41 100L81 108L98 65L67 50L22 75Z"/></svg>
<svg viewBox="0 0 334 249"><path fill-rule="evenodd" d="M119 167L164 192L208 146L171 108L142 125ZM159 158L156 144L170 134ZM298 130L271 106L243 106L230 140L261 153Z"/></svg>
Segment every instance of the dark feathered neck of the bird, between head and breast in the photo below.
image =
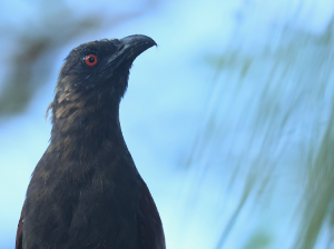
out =
<svg viewBox="0 0 334 249"><path fill-rule="evenodd" d="M119 101L57 103L52 123L48 150L62 157L89 159L106 150L129 153L119 124Z"/></svg>

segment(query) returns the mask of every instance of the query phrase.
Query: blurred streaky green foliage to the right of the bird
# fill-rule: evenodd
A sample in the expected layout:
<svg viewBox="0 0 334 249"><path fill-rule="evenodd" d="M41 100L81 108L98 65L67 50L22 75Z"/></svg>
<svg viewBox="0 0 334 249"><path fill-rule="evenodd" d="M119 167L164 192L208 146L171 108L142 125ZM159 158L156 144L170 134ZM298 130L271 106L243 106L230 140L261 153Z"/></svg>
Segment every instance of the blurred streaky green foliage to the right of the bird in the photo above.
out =
<svg viewBox="0 0 334 249"><path fill-rule="evenodd" d="M213 158L226 155L210 151L224 147L229 136L234 137L225 148L229 147L229 157L238 160L234 163L226 160L220 167L226 169L224 178L229 178L227 191L244 182L244 190L238 190L239 202L217 248L225 248L247 202L264 211L269 208L266 212L271 213L274 227L284 226L287 238L276 232L271 239L258 231L250 235L244 248L277 248L275 245L286 248L284 240L292 240L288 247L295 249L323 248L324 243L331 247L333 26L334 19L321 34L292 26L272 27L266 36L256 33L264 36L264 43L252 43L252 38L249 41L243 32L237 32L222 57L208 58L212 66L218 64L216 84L212 89L208 121L193 153L207 155L202 158L203 163L215 167L214 161L218 160ZM233 99L226 100L230 96ZM233 110L233 116L228 110ZM242 151L237 156L233 152L236 149ZM234 169L233 173L228 173L228 168ZM257 227L264 220L259 215Z"/></svg>

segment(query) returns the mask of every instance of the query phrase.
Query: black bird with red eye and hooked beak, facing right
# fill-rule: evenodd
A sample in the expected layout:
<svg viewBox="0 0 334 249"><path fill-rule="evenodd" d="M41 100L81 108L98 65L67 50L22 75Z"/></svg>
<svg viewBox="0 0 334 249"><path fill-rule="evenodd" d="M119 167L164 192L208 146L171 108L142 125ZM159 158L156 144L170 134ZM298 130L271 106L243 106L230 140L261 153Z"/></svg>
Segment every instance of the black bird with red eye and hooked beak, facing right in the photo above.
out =
<svg viewBox="0 0 334 249"><path fill-rule="evenodd" d="M48 108L50 142L31 175L16 249L166 248L119 122L132 62L154 46L143 34L101 39L65 59Z"/></svg>

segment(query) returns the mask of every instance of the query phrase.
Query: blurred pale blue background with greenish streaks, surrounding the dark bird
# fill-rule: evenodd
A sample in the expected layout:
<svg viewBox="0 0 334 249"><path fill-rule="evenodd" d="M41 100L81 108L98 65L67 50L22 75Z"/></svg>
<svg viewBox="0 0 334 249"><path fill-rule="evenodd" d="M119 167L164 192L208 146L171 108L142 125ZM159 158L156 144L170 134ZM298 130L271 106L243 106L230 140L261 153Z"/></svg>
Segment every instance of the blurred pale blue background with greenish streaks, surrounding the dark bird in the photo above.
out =
<svg viewBox="0 0 334 249"><path fill-rule="evenodd" d="M120 3L121 2L121 3ZM334 248L334 1L1 1L0 249L78 44L146 34L120 122L167 248Z"/></svg>

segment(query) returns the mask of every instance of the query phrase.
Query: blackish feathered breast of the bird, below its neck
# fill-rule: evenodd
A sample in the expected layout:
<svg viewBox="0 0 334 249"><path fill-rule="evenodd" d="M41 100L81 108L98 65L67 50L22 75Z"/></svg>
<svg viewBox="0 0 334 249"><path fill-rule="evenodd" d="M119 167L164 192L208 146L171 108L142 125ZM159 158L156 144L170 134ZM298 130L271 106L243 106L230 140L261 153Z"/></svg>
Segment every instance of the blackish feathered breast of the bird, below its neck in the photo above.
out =
<svg viewBox="0 0 334 249"><path fill-rule="evenodd" d="M140 176L126 155L101 151L81 161L46 153L27 191L23 230L76 248L101 241L135 248L139 190Z"/></svg>

